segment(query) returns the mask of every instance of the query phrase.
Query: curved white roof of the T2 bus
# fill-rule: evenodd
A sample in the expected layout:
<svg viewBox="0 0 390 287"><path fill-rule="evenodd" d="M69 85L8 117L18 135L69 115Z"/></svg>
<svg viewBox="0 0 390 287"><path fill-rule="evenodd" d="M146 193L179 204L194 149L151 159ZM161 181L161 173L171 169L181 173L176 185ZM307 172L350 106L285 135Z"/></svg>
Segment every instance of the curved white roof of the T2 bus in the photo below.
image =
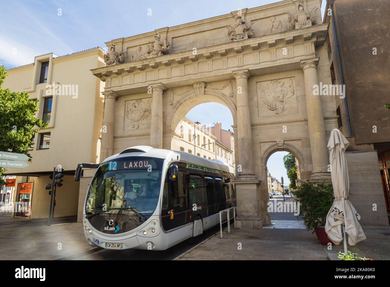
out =
<svg viewBox="0 0 390 287"><path fill-rule="evenodd" d="M221 160L209 160L197 155L193 155L188 152L179 152L176 150L164 150L161 148L152 148L151 146L131 146L122 150L122 152L112 155L106 158L107 160L113 160L120 157L131 157L131 156L145 156L145 157L156 157L158 159L166 159L168 162L171 161L182 161L190 164L196 164L206 168L213 168L220 171L226 171L229 173L236 174L235 169L228 164L225 164Z"/></svg>

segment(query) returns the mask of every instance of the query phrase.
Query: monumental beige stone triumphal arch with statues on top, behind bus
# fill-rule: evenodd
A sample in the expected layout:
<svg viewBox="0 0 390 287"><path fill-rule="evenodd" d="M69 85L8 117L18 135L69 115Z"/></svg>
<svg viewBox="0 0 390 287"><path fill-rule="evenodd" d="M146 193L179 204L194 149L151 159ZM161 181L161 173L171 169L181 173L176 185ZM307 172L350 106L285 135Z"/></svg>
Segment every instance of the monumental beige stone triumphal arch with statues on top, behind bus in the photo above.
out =
<svg viewBox="0 0 390 287"><path fill-rule="evenodd" d="M293 153L305 181L330 180L337 116L331 96L313 94L332 84L327 30L319 0L286 0L107 42L92 70L105 81L100 159L133 145L170 149L190 109L222 103L234 119L238 226L269 225L272 153Z"/></svg>

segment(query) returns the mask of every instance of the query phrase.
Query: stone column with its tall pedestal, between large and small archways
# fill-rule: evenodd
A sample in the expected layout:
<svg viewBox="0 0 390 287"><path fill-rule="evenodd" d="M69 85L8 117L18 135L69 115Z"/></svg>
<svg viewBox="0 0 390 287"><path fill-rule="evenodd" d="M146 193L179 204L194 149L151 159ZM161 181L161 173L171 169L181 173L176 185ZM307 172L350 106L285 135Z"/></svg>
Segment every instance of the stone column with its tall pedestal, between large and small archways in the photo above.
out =
<svg viewBox="0 0 390 287"><path fill-rule="evenodd" d="M260 182L253 167L252 125L249 110L248 70L234 72L237 85L237 140L239 160L236 160L237 176L234 180L237 194L237 218L239 228L261 228L264 225L260 196Z"/></svg>

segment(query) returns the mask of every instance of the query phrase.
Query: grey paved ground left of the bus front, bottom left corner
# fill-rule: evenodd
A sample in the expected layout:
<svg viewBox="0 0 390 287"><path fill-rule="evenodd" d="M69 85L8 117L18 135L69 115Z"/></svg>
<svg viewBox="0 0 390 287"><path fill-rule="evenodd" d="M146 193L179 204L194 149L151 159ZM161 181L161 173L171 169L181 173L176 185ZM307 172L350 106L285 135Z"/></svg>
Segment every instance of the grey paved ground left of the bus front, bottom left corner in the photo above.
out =
<svg viewBox="0 0 390 287"><path fill-rule="evenodd" d="M93 249L85 241L83 223L0 230L0 242L1 260L53 260Z"/></svg>

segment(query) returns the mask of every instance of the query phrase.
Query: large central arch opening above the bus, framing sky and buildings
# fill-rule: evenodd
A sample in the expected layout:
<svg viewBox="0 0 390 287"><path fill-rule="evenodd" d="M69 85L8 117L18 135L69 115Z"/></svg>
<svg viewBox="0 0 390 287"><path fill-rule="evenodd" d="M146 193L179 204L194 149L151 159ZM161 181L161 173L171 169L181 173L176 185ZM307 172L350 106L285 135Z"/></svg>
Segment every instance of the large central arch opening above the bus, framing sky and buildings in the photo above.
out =
<svg viewBox="0 0 390 287"><path fill-rule="evenodd" d="M237 109L225 94L205 89L181 96L167 116L165 148L218 159L235 168Z"/></svg>

